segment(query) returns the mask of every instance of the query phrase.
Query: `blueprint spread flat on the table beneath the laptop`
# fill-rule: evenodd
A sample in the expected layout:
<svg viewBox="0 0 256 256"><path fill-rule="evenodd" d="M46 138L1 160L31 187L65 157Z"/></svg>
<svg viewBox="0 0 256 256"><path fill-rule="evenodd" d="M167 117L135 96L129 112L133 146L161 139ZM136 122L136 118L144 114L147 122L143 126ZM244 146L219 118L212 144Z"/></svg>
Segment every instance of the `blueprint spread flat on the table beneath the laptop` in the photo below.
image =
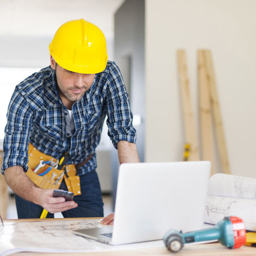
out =
<svg viewBox="0 0 256 256"><path fill-rule="evenodd" d="M101 219L5 222L0 233L0 256L18 251L87 252L163 246L162 241L111 246L72 233L73 229L102 227Z"/></svg>

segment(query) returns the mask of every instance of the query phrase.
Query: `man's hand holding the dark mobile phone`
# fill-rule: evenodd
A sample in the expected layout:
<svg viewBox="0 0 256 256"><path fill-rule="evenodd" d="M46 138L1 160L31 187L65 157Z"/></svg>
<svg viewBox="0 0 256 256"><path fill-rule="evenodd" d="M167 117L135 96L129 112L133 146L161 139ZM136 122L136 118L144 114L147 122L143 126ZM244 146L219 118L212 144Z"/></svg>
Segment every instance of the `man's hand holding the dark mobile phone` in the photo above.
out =
<svg viewBox="0 0 256 256"><path fill-rule="evenodd" d="M54 198L53 189L42 189L38 194L37 204L49 213L59 213L77 207L74 201L65 201L63 197Z"/></svg>

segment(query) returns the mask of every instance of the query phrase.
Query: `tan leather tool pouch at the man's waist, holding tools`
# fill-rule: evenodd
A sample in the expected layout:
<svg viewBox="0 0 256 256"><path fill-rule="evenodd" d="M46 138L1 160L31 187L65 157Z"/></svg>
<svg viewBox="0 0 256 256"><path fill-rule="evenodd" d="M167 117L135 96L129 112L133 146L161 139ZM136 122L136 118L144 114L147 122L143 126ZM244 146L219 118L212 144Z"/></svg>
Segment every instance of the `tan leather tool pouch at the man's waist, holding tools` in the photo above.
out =
<svg viewBox="0 0 256 256"><path fill-rule="evenodd" d="M74 195L81 195L81 188L80 188L80 178L77 174L77 169L74 164L68 164L67 165L67 174L64 174L64 168L61 170L52 168L47 174L43 176L39 176L38 174L42 173L44 170L48 169L50 167L49 164L45 164L38 173L34 173L34 169L39 164L41 160L43 161L50 161L53 160L54 162L57 162L57 159L45 155L41 153L39 150L37 150L32 144L29 144L29 163L28 163L28 171L26 174L29 176L29 178L39 186L39 188L59 188L61 182L63 179L65 180L65 183L67 185L68 191L73 192Z"/></svg>

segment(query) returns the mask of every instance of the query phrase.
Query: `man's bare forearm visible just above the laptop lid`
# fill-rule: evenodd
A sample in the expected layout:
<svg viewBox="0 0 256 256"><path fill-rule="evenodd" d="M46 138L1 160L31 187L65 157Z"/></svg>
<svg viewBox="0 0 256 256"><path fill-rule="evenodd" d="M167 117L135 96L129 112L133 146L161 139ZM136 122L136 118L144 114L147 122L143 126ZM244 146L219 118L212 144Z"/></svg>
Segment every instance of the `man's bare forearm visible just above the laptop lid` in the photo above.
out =
<svg viewBox="0 0 256 256"><path fill-rule="evenodd" d="M123 163L139 163L137 148L134 143L120 140L117 143L118 157L120 164Z"/></svg>

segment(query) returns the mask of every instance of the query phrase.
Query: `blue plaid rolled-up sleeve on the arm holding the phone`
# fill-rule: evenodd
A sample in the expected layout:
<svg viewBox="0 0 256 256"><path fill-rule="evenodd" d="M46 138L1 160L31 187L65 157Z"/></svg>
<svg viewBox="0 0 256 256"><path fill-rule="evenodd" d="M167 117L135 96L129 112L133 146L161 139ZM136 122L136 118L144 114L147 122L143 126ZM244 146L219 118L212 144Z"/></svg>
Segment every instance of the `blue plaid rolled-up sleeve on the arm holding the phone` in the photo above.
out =
<svg viewBox="0 0 256 256"><path fill-rule="evenodd" d="M27 171L32 116L32 108L16 87L7 112L2 173L5 169L15 165L20 165L24 171Z"/></svg>

